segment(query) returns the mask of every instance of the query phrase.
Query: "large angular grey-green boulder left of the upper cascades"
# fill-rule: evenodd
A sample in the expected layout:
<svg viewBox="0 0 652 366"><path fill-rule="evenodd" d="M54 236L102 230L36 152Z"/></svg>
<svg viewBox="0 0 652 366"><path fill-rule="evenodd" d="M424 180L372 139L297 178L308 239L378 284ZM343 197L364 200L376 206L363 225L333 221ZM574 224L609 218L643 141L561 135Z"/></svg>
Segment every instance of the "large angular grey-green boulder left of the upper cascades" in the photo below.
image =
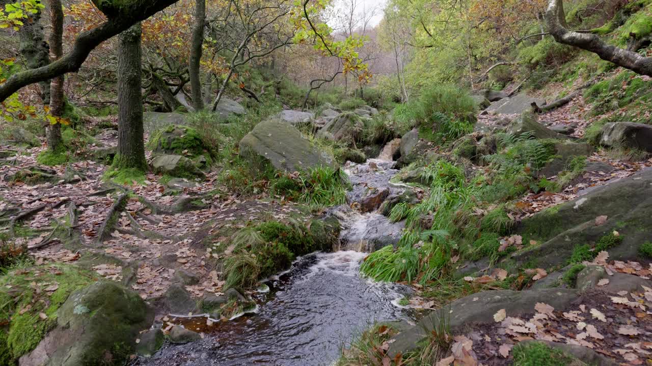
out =
<svg viewBox="0 0 652 366"><path fill-rule="evenodd" d="M334 165L334 159L312 145L301 132L281 120L260 122L240 141L240 155L262 157L276 169L294 172L319 165Z"/></svg>

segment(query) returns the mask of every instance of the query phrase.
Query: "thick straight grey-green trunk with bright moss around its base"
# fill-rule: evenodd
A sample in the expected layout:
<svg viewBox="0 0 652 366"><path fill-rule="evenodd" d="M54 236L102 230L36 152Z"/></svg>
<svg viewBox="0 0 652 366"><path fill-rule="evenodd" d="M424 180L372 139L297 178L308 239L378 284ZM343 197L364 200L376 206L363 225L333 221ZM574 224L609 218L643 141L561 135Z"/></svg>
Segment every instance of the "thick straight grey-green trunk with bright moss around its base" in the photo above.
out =
<svg viewBox="0 0 652 366"><path fill-rule="evenodd" d="M141 25L136 23L119 36L118 153L113 159L114 169L147 170L143 139L141 33Z"/></svg>

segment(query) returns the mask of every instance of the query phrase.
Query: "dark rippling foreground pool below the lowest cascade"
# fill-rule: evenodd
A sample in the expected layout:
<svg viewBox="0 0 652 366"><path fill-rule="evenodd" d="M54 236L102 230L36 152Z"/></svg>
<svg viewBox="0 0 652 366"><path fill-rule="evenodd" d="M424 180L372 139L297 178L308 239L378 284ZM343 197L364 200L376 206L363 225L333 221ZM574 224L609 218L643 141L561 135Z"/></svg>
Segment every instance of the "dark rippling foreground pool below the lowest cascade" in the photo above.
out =
<svg viewBox="0 0 652 366"><path fill-rule="evenodd" d="M167 346L139 365L329 365L370 323L412 318L392 304L404 287L359 276L363 258L355 251L308 255L267 283L258 314L216 322L203 340Z"/></svg>

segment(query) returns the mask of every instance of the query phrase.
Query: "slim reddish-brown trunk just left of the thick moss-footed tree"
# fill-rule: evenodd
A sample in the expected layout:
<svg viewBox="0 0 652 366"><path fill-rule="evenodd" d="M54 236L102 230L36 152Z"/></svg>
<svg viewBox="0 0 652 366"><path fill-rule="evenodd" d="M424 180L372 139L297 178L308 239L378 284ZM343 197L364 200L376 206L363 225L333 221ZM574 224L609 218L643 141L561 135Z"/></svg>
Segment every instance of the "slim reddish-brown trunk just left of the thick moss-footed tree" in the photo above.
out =
<svg viewBox="0 0 652 366"><path fill-rule="evenodd" d="M50 59L52 62L63 57L63 7L61 0L50 0ZM50 115L61 117L63 115L63 81L64 76L57 76L50 84ZM48 148L57 152L63 144L61 137L61 122L48 124L46 127L46 139Z"/></svg>

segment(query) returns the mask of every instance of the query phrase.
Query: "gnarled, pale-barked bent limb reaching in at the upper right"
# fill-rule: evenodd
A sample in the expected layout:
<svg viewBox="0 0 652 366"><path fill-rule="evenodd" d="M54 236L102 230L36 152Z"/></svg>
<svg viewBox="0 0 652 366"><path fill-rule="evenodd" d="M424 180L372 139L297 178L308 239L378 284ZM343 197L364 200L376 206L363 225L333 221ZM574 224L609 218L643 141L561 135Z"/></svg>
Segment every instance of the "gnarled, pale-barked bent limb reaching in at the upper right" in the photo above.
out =
<svg viewBox="0 0 652 366"><path fill-rule="evenodd" d="M546 10L548 32L562 44L593 52L600 59L610 61L637 74L652 76L652 57L638 54L636 49L628 50L606 44L593 33L569 31L565 22L563 0L550 0Z"/></svg>

